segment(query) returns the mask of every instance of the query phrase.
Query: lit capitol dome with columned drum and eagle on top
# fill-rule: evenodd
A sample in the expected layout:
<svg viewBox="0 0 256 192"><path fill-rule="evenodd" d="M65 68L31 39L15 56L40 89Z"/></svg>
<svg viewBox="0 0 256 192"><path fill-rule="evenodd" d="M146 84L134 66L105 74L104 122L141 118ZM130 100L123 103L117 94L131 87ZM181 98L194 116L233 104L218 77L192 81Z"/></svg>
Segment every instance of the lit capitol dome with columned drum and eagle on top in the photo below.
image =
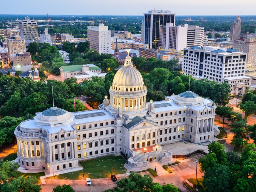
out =
<svg viewBox="0 0 256 192"><path fill-rule="evenodd" d="M110 86L110 108L116 110L118 104L125 111L144 110L146 108L147 87L143 78L132 65L132 59L128 54L125 58L124 67L119 69Z"/></svg>

